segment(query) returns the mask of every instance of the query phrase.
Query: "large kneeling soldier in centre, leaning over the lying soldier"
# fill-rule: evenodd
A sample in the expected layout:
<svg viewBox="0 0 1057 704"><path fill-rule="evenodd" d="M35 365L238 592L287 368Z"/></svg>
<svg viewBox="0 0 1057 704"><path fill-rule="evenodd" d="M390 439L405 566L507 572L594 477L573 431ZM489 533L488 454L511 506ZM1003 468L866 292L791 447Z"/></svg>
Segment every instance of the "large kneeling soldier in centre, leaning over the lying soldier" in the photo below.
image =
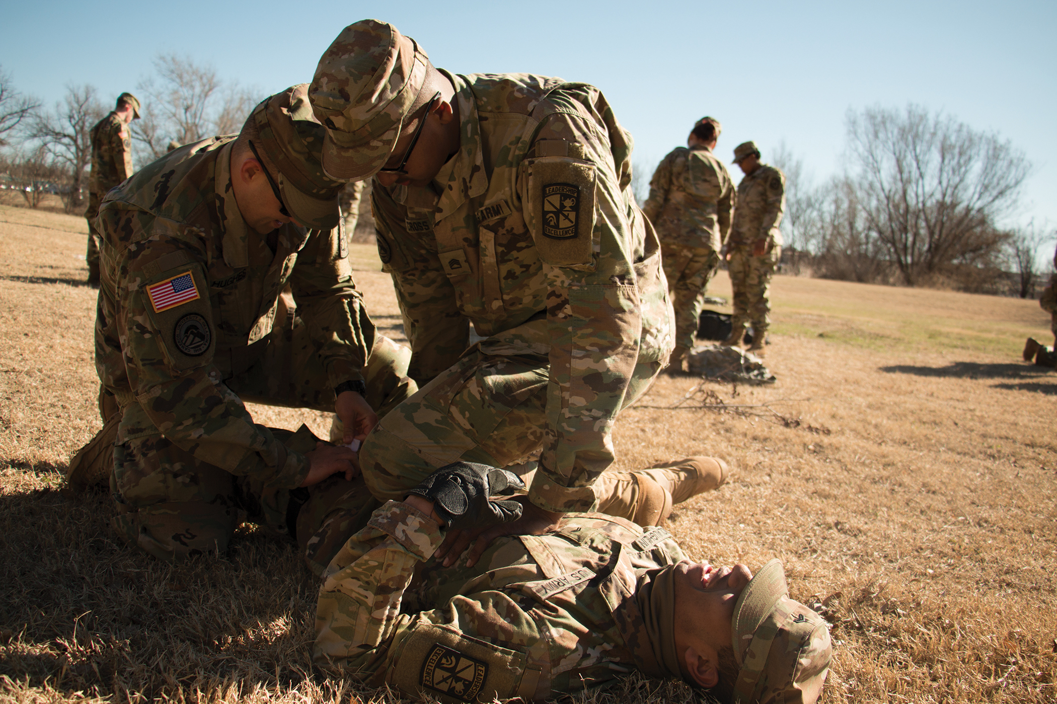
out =
<svg viewBox="0 0 1057 704"><path fill-rule="evenodd" d="M660 244L630 189L631 136L605 96L441 72L374 20L338 36L310 96L328 174L374 176L378 252L423 385L360 451L371 491L402 498L460 458L538 457L511 530L591 509L616 415L672 346ZM470 324L484 337L474 345Z"/></svg>

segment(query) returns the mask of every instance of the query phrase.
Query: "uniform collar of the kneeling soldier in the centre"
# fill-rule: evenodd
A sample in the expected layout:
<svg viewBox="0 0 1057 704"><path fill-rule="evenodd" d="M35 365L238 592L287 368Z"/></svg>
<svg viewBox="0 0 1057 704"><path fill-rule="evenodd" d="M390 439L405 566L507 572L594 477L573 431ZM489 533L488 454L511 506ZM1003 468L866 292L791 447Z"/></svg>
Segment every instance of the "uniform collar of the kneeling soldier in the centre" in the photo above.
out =
<svg viewBox="0 0 1057 704"><path fill-rule="evenodd" d="M488 176L481 150L481 123L477 98L469 83L457 74L439 69L456 87L459 104L459 152L433 176L432 189L400 186L393 198L411 208L433 210L435 220L447 217L467 199L488 190Z"/></svg>

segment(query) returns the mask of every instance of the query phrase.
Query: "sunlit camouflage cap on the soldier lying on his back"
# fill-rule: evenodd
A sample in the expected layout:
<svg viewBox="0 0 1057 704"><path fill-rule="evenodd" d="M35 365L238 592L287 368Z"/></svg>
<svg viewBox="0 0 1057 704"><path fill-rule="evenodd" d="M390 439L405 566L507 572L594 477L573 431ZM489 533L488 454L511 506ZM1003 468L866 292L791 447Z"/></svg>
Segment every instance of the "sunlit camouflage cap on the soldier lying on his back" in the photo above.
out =
<svg viewBox="0 0 1057 704"><path fill-rule="evenodd" d="M780 560L764 565L745 585L730 625L741 666L736 704L818 700L833 657L830 631L821 616L789 597Z"/></svg>

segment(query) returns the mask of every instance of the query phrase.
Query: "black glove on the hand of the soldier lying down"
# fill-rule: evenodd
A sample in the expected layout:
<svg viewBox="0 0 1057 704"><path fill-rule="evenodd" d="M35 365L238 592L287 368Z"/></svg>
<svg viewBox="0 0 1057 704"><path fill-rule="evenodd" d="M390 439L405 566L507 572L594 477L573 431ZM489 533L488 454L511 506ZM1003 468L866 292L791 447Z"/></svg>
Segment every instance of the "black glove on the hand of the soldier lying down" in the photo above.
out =
<svg viewBox="0 0 1057 704"><path fill-rule="evenodd" d="M433 510L448 529L487 528L521 517L518 501L489 501L489 496L508 496L524 482L518 475L487 464L452 462L429 475L412 489L433 502Z"/></svg>

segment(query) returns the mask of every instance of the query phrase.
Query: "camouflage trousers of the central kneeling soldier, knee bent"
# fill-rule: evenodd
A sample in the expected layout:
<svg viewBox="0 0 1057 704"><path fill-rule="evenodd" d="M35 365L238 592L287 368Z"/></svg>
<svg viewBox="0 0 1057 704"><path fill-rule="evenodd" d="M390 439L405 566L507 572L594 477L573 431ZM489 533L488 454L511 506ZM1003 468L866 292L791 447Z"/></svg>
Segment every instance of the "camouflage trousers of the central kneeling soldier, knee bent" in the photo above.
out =
<svg viewBox="0 0 1057 704"><path fill-rule="evenodd" d="M382 419L359 451L375 497L403 500L409 489L456 460L519 464L519 473L537 468L548 425L549 360L511 343L533 325L482 340ZM649 388L660 369L661 362L635 365L624 406ZM548 476L560 487L592 483L590 477Z"/></svg>

